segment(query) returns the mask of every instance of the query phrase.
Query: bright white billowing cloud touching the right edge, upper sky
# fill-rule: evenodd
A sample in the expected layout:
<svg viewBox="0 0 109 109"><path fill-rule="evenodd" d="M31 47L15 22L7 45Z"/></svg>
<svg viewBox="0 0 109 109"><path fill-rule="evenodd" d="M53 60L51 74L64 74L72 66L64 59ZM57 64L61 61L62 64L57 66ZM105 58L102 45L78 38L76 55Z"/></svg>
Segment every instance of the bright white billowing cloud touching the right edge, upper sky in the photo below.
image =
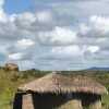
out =
<svg viewBox="0 0 109 109"><path fill-rule="evenodd" d="M78 33L84 37L106 37L109 34L109 17L93 15L88 23L80 25Z"/></svg>

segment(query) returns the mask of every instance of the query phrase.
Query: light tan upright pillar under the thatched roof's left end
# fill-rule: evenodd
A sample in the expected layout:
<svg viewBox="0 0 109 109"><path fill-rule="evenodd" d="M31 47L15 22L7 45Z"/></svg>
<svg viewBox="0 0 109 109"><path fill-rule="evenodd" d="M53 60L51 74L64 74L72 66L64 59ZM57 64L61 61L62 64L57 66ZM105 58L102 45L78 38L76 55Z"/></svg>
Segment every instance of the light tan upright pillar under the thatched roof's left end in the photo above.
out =
<svg viewBox="0 0 109 109"><path fill-rule="evenodd" d="M22 109L34 109L32 94L23 95Z"/></svg>

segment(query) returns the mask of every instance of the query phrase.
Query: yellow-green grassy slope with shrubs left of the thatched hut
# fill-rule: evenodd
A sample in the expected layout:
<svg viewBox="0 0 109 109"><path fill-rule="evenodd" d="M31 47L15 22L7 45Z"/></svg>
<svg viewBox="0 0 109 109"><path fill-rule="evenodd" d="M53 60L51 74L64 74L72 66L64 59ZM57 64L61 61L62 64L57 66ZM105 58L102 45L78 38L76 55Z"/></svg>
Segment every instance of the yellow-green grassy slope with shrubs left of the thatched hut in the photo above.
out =
<svg viewBox="0 0 109 109"><path fill-rule="evenodd" d="M17 86L26 82L29 82L36 77L40 77L45 73L40 73L39 71L34 71L34 70L15 72L15 71L5 71L1 69L0 70L0 109L12 109L12 102Z"/></svg>

